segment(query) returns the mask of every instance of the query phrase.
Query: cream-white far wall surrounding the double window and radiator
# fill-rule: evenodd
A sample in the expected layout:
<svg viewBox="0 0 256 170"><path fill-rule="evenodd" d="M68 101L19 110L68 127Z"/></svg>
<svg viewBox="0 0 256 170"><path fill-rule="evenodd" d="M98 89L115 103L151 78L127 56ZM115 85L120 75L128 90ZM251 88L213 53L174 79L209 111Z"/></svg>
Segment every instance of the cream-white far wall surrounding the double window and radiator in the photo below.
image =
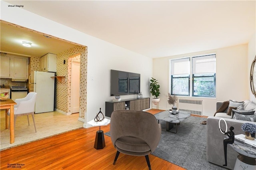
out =
<svg viewBox="0 0 256 170"><path fill-rule="evenodd" d="M216 101L235 99L244 101L248 95L248 48L247 45L237 45L197 53L176 55L153 59L153 77L160 84L160 109L168 109L166 95L169 92L169 60L216 53L216 98L182 97L203 100L203 115L211 116L216 111Z"/></svg>

